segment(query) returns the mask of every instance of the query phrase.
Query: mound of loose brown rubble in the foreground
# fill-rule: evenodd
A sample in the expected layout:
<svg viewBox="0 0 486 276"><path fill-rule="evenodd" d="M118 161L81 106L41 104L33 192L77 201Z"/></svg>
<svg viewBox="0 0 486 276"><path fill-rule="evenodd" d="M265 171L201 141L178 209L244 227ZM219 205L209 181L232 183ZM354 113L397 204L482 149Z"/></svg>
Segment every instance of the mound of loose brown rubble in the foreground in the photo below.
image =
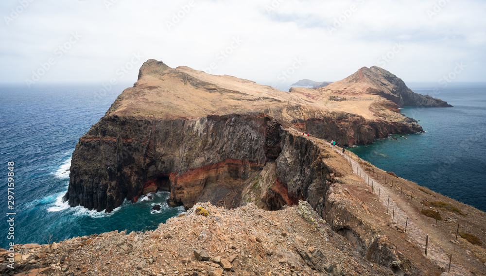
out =
<svg viewBox="0 0 486 276"><path fill-rule="evenodd" d="M230 210L198 203L154 231L16 245L15 251L15 269L1 265L2 275L388 276L390 263L405 261L393 255L390 263L371 263L304 201L276 212L253 204ZM0 258L8 252L0 249ZM414 263L399 272L422 276L440 270Z"/></svg>

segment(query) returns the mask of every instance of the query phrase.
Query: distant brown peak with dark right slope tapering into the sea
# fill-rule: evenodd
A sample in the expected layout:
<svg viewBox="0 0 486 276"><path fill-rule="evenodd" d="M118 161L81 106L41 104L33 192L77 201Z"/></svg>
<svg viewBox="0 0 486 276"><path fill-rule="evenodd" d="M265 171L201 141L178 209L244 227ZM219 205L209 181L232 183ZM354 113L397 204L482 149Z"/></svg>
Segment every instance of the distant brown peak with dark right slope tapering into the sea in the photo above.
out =
<svg viewBox="0 0 486 276"><path fill-rule="evenodd" d="M340 95L372 94L380 95L400 107L407 106L441 106L451 107L439 99L429 95L414 93L396 75L377 66L363 67L347 78L331 83L325 87Z"/></svg>

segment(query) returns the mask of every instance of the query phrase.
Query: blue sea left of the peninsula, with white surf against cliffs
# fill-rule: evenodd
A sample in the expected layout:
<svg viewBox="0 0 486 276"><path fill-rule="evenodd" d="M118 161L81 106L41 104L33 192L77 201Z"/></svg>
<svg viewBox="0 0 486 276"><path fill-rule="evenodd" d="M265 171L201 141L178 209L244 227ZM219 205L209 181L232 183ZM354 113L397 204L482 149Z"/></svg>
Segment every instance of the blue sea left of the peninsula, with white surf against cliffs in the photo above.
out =
<svg viewBox="0 0 486 276"><path fill-rule="evenodd" d="M182 211L166 204L168 193L137 204L125 202L110 214L69 208L62 202L69 183L69 165L78 141L104 116L124 84L107 93L101 86L0 86L0 247L9 242L46 243L113 230L155 229ZM14 209L8 209L7 162L14 165ZM3 173L2 173L3 171ZM152 210L156 204L160 211ZM7 216L7 212L16 215ZM14 218L14 239L8 239L8 218Z"/></svg>

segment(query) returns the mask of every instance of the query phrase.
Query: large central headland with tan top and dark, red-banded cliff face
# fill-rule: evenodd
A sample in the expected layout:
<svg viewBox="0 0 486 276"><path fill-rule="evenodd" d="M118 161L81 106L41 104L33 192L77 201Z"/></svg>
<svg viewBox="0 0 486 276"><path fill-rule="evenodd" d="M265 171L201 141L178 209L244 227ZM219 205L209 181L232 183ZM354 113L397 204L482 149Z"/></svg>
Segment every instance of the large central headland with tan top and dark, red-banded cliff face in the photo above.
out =
<svg viewBox="0 0 486 276"><path fill-rule="evenodd" d="M388 121L366 120L332 111L321 99L149 60L134 87L80 138L65 199L111 212L125 199L167 190L172 206L228 200L237 207L241 191L266 172L260 200L278 209L309 201L311 185L326 189L331 171L318 161L319 147L295 130L340 145L422 131L386 108L375 114Z"/></svg>

